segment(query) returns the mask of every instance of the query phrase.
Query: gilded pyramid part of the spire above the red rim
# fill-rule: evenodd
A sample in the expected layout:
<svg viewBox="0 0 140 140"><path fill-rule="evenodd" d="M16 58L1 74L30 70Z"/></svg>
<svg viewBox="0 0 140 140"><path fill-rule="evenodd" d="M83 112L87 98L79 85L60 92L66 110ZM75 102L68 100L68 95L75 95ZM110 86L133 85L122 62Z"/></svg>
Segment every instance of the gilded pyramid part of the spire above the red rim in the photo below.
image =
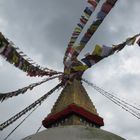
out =
<svg viewBox="0 0 140 140"><path fill-rule="evenodd" d="M63 89L51 110L51 114L62 111L70 104L76 104L80 107L83 107L87 111L98 115L96 108L90 100L81 81L74 80L71 84L68 84Z"/></svg>

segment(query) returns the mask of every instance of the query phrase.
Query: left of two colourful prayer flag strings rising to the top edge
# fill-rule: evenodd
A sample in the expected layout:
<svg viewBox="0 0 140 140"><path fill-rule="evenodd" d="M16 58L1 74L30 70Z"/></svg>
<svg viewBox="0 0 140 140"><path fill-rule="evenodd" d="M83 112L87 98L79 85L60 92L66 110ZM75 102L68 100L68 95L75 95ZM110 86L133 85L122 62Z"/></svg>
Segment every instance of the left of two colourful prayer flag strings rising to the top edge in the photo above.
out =
<svg viewBox="0 0 140 140"><path fill-rule="evenodd" d="M83 28L85 27L86 23L88 22L89 18L91 17L92 13L96 9L100 0L88 0L89 6L87 6L80 18L79 23L77 24L76 28L74 29L70 41L68 43L68 48L66 50L64 61L66 60L69 54L69 48L73 47L74 43L76 42L77 38L79 37L80 33L82 32Z"/></svg>

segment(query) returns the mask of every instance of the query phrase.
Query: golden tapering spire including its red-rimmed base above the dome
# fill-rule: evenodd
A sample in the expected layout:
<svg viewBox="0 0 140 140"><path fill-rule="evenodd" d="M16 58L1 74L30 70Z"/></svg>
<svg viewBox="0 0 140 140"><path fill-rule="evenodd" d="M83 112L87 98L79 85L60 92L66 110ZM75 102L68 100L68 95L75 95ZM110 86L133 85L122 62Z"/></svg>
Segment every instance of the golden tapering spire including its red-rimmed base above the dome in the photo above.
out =
<svg viewBox="0 0 140 140"><path fill-rule="evenodd" d="M67 84L58 97L51 113L43 120L46 128L58 125L103 126L95 106L81 81L74 79Z"/></svg>

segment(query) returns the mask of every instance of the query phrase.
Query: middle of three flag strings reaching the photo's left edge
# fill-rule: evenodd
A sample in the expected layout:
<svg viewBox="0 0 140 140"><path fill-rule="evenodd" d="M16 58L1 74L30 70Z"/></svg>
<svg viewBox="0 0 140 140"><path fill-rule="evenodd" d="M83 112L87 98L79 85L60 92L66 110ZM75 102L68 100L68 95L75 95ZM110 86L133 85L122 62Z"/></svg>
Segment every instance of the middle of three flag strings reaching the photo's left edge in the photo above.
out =
<svg viewBox="0 0 140 140"><path fill-rule="evenodd" d="M12 91L12 92L8 92L8 93L0 93L0 101L3 102L4 100L8 99L8 98L12 98L14 96L18 96L20 94L24 94L25 92L27 92L27 90L32 90L34 87L37 87L47 81L53 80L55 78L59 78L60 76L54 76L54 77L50 77L50 78L46 78L40 82L37 83L33 83L30 84L29 86L26 86L24 88L20 88L16 91Z"/></svg>

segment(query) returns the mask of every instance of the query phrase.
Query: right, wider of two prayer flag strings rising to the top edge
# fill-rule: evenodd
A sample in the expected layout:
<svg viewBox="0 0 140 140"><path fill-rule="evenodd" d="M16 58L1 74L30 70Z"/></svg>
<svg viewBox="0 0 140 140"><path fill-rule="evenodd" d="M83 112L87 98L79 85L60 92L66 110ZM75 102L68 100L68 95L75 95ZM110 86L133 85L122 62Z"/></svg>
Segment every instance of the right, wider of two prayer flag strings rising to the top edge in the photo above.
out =
<svg viewBox="0 0 140 140"><path fill-rule="evenodd" d="M82 49L86 46L90 38L96 32L96 30L98 29L98 27L103 22L104 18L108 15L108 13L113 8L116 2L117 0L113 0L113 1L106 0L106 2L103 3L100 11L98 12L96 16L96 20L94 20L91 26L87 29L87 32L82 37L79 45L75 46L75 50L77 51L77 56L82 51Z"/></svg>

